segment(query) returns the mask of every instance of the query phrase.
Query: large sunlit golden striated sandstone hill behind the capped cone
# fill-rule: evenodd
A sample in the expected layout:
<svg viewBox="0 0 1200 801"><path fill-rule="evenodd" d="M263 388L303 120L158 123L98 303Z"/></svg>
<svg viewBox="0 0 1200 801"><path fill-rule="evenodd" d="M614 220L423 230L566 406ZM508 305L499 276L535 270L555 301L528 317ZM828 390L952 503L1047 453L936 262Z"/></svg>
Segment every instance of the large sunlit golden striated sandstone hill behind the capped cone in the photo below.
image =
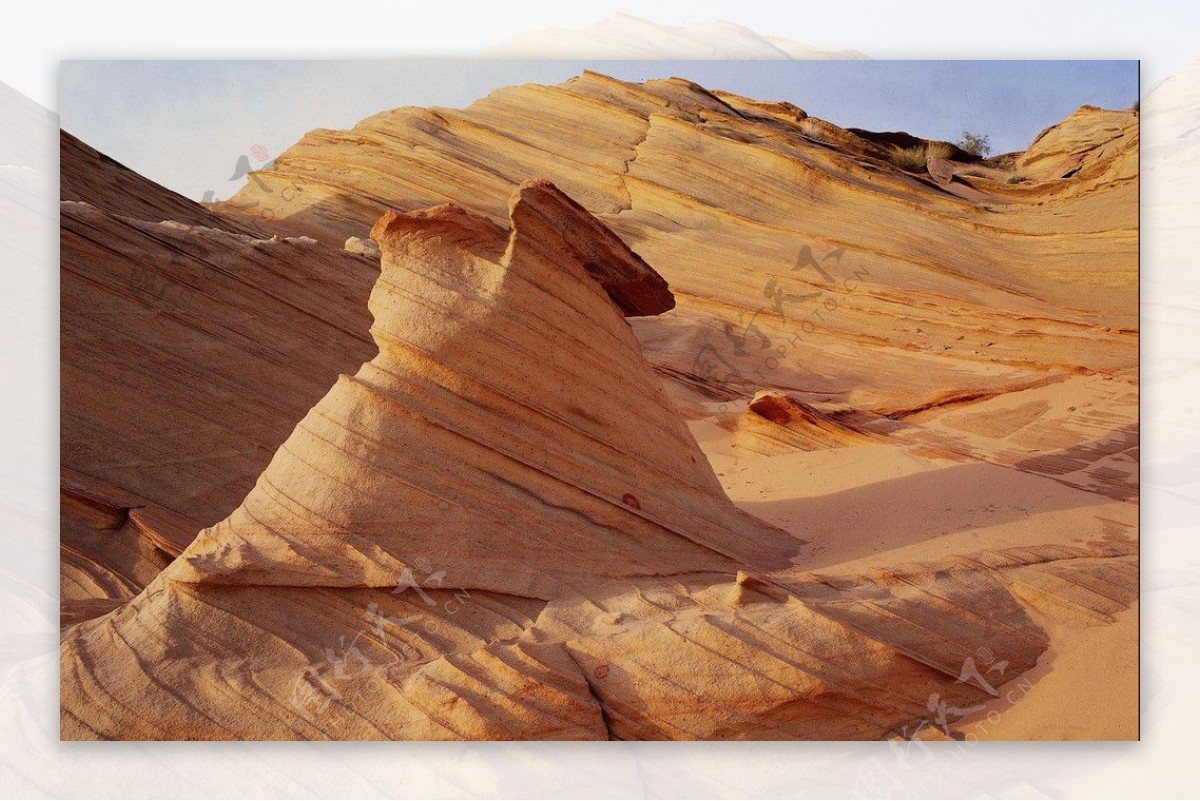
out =
<svg viewBox="0 0 1200 801"><path fill-rule="evenodd" d="M935 163L940 179L922 177L788 103L584 72L313 131L221 210L251 219L290 198L281 224L340 243L388 207L454 201L503 225L511 187L548 177L671 283L677 309L635 332L688 416L775 390L1037 468L1045 442L979 447L934 414L919 428L904 415L938 409L947 389L1058 381L1057 397L1100 386L1112 403L1093 417L1050 399L1054 450L1135 430L1138 143L1136 112L1085 107L1010 168L948 162L948 177Z"/></svg>

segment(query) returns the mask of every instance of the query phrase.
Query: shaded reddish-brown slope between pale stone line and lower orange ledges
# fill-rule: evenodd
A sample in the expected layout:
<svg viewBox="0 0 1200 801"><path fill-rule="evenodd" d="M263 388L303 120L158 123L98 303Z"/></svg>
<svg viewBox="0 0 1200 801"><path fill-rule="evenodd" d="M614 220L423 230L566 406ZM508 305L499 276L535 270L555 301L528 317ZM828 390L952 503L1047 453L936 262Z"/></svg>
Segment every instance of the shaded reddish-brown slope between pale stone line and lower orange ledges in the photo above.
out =
<svg viewBox="0 0 1200 801"><path fill-rule="evenodd" d="M378 273L338 251L72 203L61 247L64 466L202 523L371 355Z"/></svg>

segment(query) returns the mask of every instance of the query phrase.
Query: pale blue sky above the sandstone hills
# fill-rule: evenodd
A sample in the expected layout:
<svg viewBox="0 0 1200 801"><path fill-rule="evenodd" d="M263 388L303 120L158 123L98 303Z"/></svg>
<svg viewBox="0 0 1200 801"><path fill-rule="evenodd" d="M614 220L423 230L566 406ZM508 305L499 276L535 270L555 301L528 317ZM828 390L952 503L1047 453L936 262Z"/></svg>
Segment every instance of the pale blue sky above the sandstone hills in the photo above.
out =
<svg viewBox="0 0 1200 801"><path fill-rule="evenodd" d="M996 152L1024 149L1084 103L1138 98L1136 61L64 61L59 109L66 131L143 175L194 199L227 198L254 145L274 158L312 128L400 106L461 108L583 68L786 100L844 127L950 140L983 132Z"/></svg>

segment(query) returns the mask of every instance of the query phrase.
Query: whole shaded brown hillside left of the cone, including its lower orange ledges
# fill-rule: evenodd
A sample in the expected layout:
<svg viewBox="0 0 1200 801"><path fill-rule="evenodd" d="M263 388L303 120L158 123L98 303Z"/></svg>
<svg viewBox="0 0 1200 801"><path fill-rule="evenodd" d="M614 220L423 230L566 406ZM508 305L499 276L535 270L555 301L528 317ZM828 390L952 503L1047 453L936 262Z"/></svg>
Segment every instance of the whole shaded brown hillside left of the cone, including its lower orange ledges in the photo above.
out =
<svg viewBox="0 0 1200 801"><path fill-rule="evenodd" d="M378 269L242 233L65 132L61 164L64 198L88 200L60 212L60 594L77 622L233 511L371 357Z"/></svg>

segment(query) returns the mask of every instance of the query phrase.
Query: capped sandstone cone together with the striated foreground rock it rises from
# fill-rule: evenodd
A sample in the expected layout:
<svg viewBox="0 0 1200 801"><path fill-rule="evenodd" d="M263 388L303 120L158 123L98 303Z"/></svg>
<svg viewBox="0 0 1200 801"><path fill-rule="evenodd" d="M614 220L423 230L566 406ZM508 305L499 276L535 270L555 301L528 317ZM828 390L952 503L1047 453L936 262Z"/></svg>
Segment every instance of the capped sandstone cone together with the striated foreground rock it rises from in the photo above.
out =
<svg viewBox="0 0 1200 801"><path fill-rule="evenodd" d="M560 212L532 235L526 205ZM64 739L881 737L1036 664L1010 588L1132 600L1120 544L790 567L803 543L728 504L607 283L666 288L547 183L511 224L379 221L378 354L228 519L65 632ZM556 245L580 236L624 260Z"/></svg>

